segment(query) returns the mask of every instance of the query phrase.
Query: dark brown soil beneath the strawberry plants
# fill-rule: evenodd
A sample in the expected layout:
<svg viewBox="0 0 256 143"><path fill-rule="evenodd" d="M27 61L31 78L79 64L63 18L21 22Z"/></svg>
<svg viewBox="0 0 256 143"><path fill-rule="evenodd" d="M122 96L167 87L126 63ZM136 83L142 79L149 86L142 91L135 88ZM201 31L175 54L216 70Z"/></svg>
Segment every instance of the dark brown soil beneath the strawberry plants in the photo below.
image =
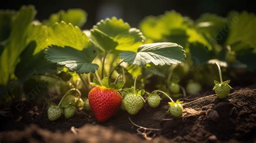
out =
<svg viewBox="0 0 256 143"><path fill-rule="evenodd" d="M7 117L0 116L0 142L253 142L256 141L256 88L235 90L226 99L201 95L184 99L185 108L196 114L173 119L167 100L158 108L147 104L137 115L119 111L99 123L90 112L78 111L75 117L49 121L43 106L24 102L22 112L11 105ZM189 101L189 102L188 102ZM188 110L190 111L190 110ZM188 112L187 112L188 113ZM139 126L155 128L149 131Z"/></svg>

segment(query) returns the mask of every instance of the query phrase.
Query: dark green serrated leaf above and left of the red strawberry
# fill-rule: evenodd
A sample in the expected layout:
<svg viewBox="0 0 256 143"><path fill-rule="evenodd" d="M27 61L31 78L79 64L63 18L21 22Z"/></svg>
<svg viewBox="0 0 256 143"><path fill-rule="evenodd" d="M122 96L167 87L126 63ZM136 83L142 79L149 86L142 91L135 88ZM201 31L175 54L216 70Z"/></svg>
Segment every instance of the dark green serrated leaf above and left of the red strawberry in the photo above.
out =
<svg viewBox="0 0 256 143"><path fill-rule="evenodd" d="M89 45L83 51L78 51L69 46L63 48L51 45L45 51L45 58L52 63L68 67L71 72L94 73L99 66L91 64L91 62L97 56L97 49L92 43Z"/></svg>

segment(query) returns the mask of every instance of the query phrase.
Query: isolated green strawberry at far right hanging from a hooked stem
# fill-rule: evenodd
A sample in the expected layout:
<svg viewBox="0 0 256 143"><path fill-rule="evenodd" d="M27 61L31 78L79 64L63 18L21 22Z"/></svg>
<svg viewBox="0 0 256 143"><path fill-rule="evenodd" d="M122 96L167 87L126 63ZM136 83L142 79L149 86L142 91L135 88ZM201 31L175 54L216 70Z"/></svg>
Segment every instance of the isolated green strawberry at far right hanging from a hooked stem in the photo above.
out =
<svg viewBox="0 0 256 143"><path fill-rule="evenodd" d="M228 93L230 93L230 89L232 88L228 83L230 83L230 80L224 81L222 84L218 81L214 81L215 86L213 87L213 90L217 94L217 96L220 99L226 98L228 96Z"/></svg>

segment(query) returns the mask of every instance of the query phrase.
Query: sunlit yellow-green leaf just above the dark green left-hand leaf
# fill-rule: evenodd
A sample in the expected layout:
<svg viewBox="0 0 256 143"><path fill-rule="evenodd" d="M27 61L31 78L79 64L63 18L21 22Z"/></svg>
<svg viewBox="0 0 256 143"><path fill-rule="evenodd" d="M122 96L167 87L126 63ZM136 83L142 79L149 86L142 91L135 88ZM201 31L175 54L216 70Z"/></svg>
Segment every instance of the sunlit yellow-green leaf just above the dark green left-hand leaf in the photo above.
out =
<svg viewBox="0 0 256 143"><path fill-rule="evenodd" d="M56 23L49 27L48 45L70 46L77 50L83 50L89 43L89 38L77 26Z"/></svg>

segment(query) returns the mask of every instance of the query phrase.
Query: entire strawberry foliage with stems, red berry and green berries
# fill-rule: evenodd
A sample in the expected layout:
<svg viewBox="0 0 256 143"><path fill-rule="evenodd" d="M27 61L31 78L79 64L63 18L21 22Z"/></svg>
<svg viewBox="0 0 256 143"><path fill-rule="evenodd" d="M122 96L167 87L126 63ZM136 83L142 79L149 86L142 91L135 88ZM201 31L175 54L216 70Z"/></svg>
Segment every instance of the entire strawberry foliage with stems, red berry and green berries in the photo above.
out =
<svg viewBox="0 0 256 143"><path fill-rule="evenodd" d="M34 21L36 10L32 5L2 14L11 20L10 36L1 36L4 47L0 57L3 75L0 84L4 93L1 98L12 100L15 85L26 84L28 79L47 81L48 91L59 95L68 91L59 105L50 105L50 120L58 119L61 114L71 118L78 108L83 108L104 122L119 108L130 114L137 114L145 103L156 108L161 101L160 94L171 100L169 112L173 117L180 117L182 106L172 98L179 98L181 92L186 96L184 83L188 94L196 94L208 83L207 79L212 80L208 76L212 74L208 63L213 58L224 60L228 67L254 68L244 58L253 59L255 50L240 51L248 45L254 48L255 43L250 37L238 37L239 26L251 23L251 19L234 22L226 38L214 37L235 17L255 17L247 12L231 12L227 18L205 14L193 22L176 11L167 11L164 15L144 18L140 30L116 17L102 19L91 29L82 30L87 13L81 9L61 10L42 22ZM208 26L209 23L213 25ZM189 58L181 63L185 51ZM193 72L191 66L198 69ZM183 80L187 77L193 82ZM145 91L146 85L153 83L152 79L156 81L153 86L159 90L149 93ZM223 82L220 73L220 83L214 83L218 97L225 98L231 88L229 80ZM71 93L70 89L76 92Z"/></svg>

